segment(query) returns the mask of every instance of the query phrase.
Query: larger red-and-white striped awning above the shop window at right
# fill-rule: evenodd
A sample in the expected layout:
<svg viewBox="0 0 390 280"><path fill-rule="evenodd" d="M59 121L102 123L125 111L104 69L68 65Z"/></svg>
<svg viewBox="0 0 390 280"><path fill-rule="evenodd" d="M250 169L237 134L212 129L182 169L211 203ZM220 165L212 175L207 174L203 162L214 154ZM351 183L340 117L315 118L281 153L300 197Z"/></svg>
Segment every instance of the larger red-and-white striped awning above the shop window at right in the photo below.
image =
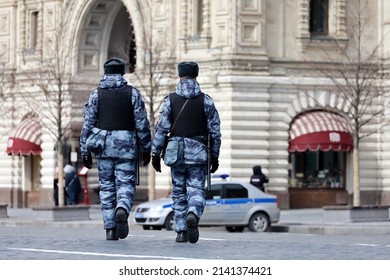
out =
<svg viewBox="0 0 390 280"><path fill-rule="evenodd" d="M343 117L325 112L308 112L298 116L290 128L290 152L351 151L352 126Z"/></svg>

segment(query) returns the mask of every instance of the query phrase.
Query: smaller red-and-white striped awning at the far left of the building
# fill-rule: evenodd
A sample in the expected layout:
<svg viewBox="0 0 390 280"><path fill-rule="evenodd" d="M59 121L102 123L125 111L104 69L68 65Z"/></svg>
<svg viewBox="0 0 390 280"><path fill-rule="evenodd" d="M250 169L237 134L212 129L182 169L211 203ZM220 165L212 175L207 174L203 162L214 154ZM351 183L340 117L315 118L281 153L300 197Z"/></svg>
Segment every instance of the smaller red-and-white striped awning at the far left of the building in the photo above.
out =
<svg viewBox="0 0 390 280"><path fill-rule="evenodd" d="M42 130L36 117L29 117L15 127L7 143L8 155L40 155Z"/></svg>

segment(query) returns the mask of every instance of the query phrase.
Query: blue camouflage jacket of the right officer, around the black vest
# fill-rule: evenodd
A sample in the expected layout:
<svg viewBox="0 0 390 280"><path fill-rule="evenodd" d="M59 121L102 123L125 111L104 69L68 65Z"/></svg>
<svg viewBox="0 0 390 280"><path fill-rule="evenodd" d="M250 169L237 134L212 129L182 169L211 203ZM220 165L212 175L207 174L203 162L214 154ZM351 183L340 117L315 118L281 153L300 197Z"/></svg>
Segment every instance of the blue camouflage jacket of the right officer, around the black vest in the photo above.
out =
<svg viewBox="0 0 390 280"><path fill-rule="evenodd" d="M193 98L201 94L200 86L196 80L181 80L176 86L176 93L185 98ZM207 119L207 130L211 135L211 154L218 158L221 148L221 121L219 114L215 108L213 99L205 94L204 111ZM165 136L171 129L173 120L171 116L171 104L169 96L163 100L163 105L160 110L160 118L156 123L154 139L152 142L152 153L160 154L164 145ZM184 164L206 164L207 149L206 146L197 140L184 137Z"/></svg>

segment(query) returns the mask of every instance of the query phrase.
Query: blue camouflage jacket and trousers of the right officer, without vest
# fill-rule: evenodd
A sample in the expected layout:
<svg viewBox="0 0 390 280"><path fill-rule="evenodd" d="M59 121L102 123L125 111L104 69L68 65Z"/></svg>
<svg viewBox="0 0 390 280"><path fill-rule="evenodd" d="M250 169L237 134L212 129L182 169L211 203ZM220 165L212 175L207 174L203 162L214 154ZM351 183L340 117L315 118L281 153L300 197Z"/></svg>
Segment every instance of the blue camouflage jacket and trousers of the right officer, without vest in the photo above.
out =
<svg viewBox="0 0 390 280"><path fill-rule="evenodd" d="M185 98L194 98L201 94L196 80L180 80L176 86L176 93ZM208 95L204 97L204 111L207 119L207 130L211 134L212 157L218 158L221 147L220 119L214 101ZM152 154L160 154L163 148L165 135L171 129L171 104L169 97L165 97L160 111L160 118L156 124L152 142ZM176 137L174 137L176 138ZM182 138L182 137L177 137ZM206 139L203 139L206 140ZM192 212L200 219L205 206L205 182L207 175L207 147L202 141L184 138L184 161L181 165L171 167L172 199L176 232L187 230L186 216Z"/></svg>

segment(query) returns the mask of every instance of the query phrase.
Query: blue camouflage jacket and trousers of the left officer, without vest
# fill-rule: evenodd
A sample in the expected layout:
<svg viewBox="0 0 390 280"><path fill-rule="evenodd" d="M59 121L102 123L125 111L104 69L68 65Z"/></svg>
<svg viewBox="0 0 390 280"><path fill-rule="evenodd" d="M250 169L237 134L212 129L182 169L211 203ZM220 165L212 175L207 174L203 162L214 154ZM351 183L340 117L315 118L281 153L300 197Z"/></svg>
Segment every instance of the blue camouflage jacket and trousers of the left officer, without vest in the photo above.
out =
<svg viewBox="0 0 390 280"><path fill-rule="evenodd" d="M103 89L118 89L127 84L122 75L104 75L99 83ZM127 214L135 194L136 136L144 152L150 153L150 124L140 92L133 87L131 102L134 108L135 131L112 130L107 134L102 151L96 152L100 184L100 203L105 229L115 228L115 210L119 207ZM85 104L84 125L80 136L82 155L89 153L87 138L97 122L98 91L94 90Z"/></svg>

